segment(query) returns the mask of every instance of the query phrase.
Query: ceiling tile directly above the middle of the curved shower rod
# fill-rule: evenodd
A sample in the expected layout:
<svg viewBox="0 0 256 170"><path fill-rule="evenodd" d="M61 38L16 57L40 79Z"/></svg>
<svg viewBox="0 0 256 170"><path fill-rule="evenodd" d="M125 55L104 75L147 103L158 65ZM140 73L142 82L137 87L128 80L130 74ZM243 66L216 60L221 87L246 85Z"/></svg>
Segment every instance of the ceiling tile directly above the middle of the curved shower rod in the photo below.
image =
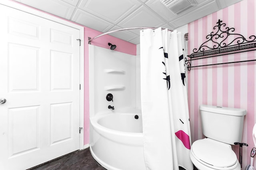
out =
<svg viewBox="0 0 256 170"><path fill-rule="evenodd" d="M118 25L123 28L129 27L159 27L165 21L156 16L153 12L142 6L130 16L121 21Z"/></svg>

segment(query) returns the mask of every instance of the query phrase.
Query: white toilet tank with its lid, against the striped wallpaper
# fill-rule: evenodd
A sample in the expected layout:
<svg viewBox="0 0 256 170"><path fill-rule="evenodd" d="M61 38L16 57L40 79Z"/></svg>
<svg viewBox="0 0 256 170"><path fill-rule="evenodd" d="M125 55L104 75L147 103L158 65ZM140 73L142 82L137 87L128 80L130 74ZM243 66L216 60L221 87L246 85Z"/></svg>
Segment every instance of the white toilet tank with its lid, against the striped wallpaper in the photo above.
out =
<svg viewBox="0 0 256 170"><path fill-rule="evenodd" d="M230 145L241 142L245 109L200 105L199 110L204 136Z"/></svg>

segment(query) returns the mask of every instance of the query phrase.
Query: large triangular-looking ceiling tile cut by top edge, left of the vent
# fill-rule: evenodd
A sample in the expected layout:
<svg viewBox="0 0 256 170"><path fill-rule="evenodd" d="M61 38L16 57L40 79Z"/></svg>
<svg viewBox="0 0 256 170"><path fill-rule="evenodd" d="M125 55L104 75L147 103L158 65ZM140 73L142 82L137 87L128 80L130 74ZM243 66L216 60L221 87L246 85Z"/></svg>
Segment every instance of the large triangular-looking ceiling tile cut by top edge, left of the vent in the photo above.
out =
<svg viewBox="0 0 256 170"><path fill-rule="evenodd" d="M140 5L137 0L82 0L79 8L115 24Z"/></svg>

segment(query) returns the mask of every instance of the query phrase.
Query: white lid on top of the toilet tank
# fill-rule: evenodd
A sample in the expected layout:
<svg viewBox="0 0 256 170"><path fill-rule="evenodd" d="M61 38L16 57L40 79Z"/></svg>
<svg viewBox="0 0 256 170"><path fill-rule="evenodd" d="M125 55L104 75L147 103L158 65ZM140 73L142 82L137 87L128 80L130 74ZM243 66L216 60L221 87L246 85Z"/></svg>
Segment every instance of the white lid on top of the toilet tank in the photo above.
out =
<svg viewBox="0 0 256 170"><path fill-rule="evenodd" d="M199 110L213 112L213 113L220 113L225 115L234 115L234 116L246 115L245 109L222 107L222 106L200 105Z"/></svg>

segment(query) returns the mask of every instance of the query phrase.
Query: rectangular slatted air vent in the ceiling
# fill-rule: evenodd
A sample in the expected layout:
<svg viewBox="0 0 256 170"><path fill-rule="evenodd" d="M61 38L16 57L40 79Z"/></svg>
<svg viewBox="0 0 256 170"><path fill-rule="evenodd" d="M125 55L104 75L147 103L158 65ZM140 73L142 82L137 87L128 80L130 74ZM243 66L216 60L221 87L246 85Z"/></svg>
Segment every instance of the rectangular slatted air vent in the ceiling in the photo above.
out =
<svg viewBox="0 0 256 170"><path fill-rule="evenodd" d="M195 0L161 0L161 2L177 15L197 5Z"/></svg>

